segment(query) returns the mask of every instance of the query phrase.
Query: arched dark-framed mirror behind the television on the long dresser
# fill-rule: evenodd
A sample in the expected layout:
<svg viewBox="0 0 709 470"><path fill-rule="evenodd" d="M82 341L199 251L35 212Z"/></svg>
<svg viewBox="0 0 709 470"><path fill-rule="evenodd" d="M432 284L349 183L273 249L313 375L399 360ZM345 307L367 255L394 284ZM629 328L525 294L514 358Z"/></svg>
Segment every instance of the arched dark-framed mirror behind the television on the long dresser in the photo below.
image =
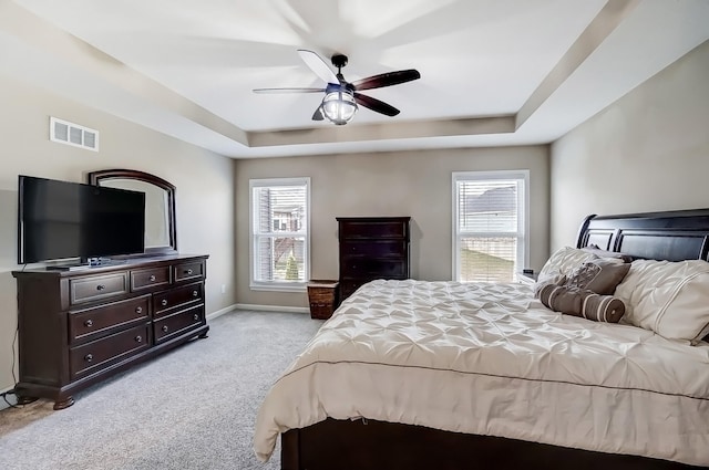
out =
<svg viewBox="0 0 709 470"><path fill-rule="evenodd" d="M173 185L150 173L131 169L92 171L89 184L145 192L145 254L177 252Z"/></svg>

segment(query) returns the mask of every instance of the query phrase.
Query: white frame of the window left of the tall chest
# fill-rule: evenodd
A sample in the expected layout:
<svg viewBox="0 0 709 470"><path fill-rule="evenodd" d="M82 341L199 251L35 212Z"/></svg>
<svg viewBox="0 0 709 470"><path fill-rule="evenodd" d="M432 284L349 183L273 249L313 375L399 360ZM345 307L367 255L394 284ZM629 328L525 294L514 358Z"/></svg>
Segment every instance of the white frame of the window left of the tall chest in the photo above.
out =
<svg viewBox="0 0 709 470"><path fill-rule="evenodd" d="M273 237L267 233L257 233L259 227L257 221L258 212L255 207L254 189L256 188L275 188L282 186L305 186L306 187L306 220L305 232L279 233L280 237L305 237L304 242L304 280L302 281L259 281L256 280L256 261L257 261L257 243L263 237ZM273 291L273 292L306 292L307 284L310 279L310 177L294 178L255 178L248 181L248 202L249 202L249 288L251 291ZM273 222L270 224L270 233L273 233Z"/></svg>

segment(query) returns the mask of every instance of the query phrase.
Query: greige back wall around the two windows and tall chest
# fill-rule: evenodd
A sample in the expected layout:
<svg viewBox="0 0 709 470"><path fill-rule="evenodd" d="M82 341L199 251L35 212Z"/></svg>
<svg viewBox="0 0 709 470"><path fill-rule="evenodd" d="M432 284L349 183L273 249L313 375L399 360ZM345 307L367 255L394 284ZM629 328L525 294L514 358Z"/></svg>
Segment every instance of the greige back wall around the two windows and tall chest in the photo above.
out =
<svg viewBox="0 0 709 470"><path fill-rule="evenodd" d="M530 169L531 265L548 247L548 147L448 149L237 160L236 295L242 304L306 306L304 293L249 290L250 178L311 178L311 279L338 278L336 217L411 216L411 275L452 271L453 171Z"/></svg>

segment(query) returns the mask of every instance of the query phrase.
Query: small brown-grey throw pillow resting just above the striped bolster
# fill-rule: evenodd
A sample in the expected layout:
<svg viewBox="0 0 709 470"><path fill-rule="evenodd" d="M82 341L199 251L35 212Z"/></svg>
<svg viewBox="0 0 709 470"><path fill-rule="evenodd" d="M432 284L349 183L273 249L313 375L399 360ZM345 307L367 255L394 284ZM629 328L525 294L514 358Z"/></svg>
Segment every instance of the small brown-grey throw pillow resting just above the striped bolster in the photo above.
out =
<svg viewBox="0 0 709 470"><path fill-rule="evenodd" d="M567 276L564 285L602 295L613 295L629 270L630 263L623 262L618 258L598 258L576 268Z"/></svg>

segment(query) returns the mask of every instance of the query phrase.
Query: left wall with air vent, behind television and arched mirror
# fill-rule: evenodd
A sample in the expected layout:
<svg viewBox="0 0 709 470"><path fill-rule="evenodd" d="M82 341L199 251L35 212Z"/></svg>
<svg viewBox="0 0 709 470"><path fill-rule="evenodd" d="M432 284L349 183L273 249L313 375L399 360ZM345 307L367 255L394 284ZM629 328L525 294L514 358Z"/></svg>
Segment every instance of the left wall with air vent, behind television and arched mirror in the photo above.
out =
<svg viewBox="0 0 709 470"><path fill-rule="evenodd" d="M207 312L235 303L232 159L0 75L0 390L14 385L18 175L85 182L88 171L131 168L177 187L181 252L208 253ZM99 153L49 140L49 117L100 130ZM222 284L226 293L222 293ZM14 351L17 355L17 351ZM17 356L16 356L17 365ZM17 367L16 367L17 373Z"/></svg>

